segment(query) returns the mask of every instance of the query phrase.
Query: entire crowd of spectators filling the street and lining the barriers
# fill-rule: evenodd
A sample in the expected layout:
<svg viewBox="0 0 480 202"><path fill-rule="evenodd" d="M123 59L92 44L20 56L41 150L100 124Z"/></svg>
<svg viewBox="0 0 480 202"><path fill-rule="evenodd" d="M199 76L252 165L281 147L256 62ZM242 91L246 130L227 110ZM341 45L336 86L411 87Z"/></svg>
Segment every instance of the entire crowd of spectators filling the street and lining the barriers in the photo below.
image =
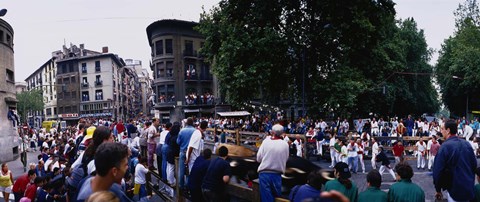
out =
<svg viewBox="0 0 480 202"><path fill-rule="evenodd" d="M410 119L408 117L405 122L409 123ZM395 123L396 119L391 120ZM359 122L352 125L359 125ZM268 130L256 154L260 163L258 177L262 201L282 197L282 174L286 161L290 155L302 156L299 151L302 151L303 145L301 135L290 139L287 133L302 132L298 131L299 127L307 138L315 139L317 145L329 145L331 168L336 179L322 186L322 173L314 171L310 173L307 184L290 191L291 201L319 197L346 197L350 201L424 201L424 191L411 181L414 175L412 166L403 160L406 151L402 142L393 145L395 163L392 164L384 147L376 140L381 133L374 129L378 125L378 131L390 131L390 136L395 134L393 131L399 130L398 135L409 135L411 125L403 125L403 120L391 126L369 122L365 121L362 130L357 130L359 135L348 136L351 138L346 142L345 137L352 127L348 120L340 119L338 125L323 120L301 119L295 126L293 122L271 121L256 116L248 120L187 118L165 124L156 118L128 120L126 123L81 119L76 126L70 126L65 131L41 129L23 134L21 139L25 144L22 144L21 151L39 152L38 162L30 165L29 170L16 181L8 165L2 164L0 192L4 198L13 194L15 201L101 201L106 198L147 201L146 175L158 172L166 186L178 186L191 201L228 201L225 185L232 175L227 162L229 151L226 147L212 151L205 148L204 141L211 138L226 142L225 134L223 137L208 137L206 129L226 129L237 123L241 127L261 125L261 129ZM441 119L431 123L424 120L417 122L411 127L411 135L422 134L430 138L427 143L422 138L416 143L416 166L433 171L437 197L442 198L442 190L447 190L445 198L474 199L476 190L480 190L474 189L478 144L464 139L475 139L479 134L474 130L478 129L478 121ZM420 123L429 125L427 134L420 130L420 126L424 126ZM439 128L432 130L430 127ZM468 127L472 128L472 134ZM294 131L292 128L295 128ZM460 129L463 129L462 132ZM441 144L440 139L443 139ZM320 155L325 153L322 147L316 152ZM373 169L367 174L369 188L358 193L355 182L350 178L360 169L366 173L363 157L370 152ZM212 157L212 153L217 157ZM176 157L180 162L178 168L175 168ZM385 171L395 181L388 193L379 189L382 180L385 181L382 179ZM480 172L477 173L480 177ZM162 191L166 188L159 187ZM337 192L341 194L337 195Z"/></svg>

